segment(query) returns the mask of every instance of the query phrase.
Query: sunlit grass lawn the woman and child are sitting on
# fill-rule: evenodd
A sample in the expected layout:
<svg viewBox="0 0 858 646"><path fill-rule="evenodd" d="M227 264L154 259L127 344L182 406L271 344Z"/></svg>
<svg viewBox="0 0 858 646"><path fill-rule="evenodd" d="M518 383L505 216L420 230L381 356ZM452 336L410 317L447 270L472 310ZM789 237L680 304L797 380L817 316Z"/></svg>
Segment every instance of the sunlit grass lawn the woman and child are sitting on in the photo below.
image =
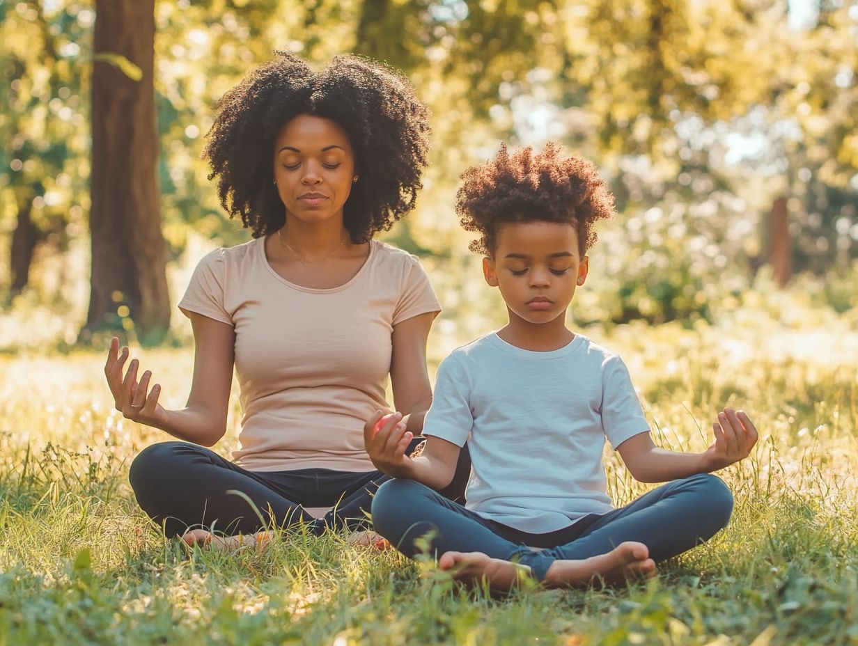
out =
<svg viewBox="0 0 858 646"><path fill-rule="evenodd" d="M757 449L721 473L733 520L649 583L505 601L337 535L185 552L136 507L130 460L165 436L112 410L102 356L2 356L0 646L858 643L858 343L838 324L615 329L658 443L701 450L716 408L752 414ZM167 406L190 361L144 353ZM607 474L619 504L646 490L611 454Z"/></svg>

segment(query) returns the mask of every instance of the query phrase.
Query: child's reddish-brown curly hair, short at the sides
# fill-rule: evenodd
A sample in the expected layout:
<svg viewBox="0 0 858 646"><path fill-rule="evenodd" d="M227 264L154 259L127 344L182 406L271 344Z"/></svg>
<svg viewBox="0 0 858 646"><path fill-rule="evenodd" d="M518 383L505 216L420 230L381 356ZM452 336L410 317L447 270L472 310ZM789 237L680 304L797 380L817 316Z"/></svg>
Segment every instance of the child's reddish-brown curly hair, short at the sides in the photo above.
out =
<svg viewBox="0 0 858 646"><path fill-rule="evenodd" d="M596 220L613 216L613 195L596 167L580 157L564 157L548 142L541 153L523 148L509 154L501 144L494 160L462 173L456 213L462 228L479 232L471 251L491 256L498 226L509 222L568 222L578 234L583 256L596 240Z"/></svg>

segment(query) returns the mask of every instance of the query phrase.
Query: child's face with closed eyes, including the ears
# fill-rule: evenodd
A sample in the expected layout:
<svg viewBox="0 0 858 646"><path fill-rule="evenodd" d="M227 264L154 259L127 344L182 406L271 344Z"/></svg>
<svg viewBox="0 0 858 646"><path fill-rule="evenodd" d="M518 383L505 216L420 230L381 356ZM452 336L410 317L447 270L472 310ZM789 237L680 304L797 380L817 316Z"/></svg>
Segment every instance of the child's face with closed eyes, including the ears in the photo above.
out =
<svg viewBox="0 0 858 646"><path fill-rule="evenodd" d="M587 278L587 257L578 251L570 224L511 222L500 226L492 257L483 259L486 282L518 317L548 323L563 316L575 288Z"/></svg>

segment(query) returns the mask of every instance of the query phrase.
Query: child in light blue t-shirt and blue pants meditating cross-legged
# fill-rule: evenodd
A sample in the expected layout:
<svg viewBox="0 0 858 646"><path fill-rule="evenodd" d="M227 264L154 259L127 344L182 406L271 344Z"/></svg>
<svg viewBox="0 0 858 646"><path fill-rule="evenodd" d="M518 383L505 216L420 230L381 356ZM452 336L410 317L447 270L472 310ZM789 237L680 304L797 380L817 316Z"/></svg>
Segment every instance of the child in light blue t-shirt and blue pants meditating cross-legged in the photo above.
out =
<svg viewBox="0 0 858 646"><path fill-rule="evenodd" d="M710 472L745 458L757 441L746 414L725 408L703 453L656 448L619 357L565 326L587 278L595 220L613 196L589 161L549 143L475 166L456 210L481 238L486 282L509 323L456 349L438 368L422 455L401 415L367 421L366 450L390 480L372 501L376 531L408 556L428 535L439 565L510 589L521 571L549 587L624 583L727 525L733 497ZM378 431L376 431L378 429ZM621 509L606 493L605 438L631 474L668 482ZM473 470L467 507L438 495L465 441Z"/></svg>

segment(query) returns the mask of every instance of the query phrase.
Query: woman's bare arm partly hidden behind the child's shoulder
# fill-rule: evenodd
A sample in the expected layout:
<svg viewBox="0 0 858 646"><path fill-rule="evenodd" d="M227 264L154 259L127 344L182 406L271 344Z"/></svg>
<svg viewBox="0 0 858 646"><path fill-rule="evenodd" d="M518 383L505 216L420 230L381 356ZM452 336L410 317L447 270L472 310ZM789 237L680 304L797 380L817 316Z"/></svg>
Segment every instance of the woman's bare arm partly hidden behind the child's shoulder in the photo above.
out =
<svg viewBox="0 0 858 646"><path fill-rule="evenodd" d="M426 312L393 326L390 358L393 405L402 411L412 435L423 431L423 418L432 403L432 386L426 372L426 340L436 313Z"/></svg>

